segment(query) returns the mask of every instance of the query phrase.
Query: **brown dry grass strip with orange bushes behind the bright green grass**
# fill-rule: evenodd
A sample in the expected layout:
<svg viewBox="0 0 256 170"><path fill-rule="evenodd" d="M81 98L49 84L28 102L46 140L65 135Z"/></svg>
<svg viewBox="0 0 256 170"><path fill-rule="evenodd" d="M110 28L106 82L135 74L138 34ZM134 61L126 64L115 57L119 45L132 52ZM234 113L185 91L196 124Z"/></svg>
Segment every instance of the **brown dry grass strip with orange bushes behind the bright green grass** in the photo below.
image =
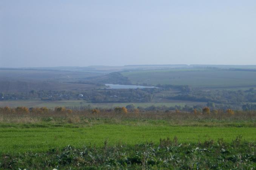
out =
<svg viewBox="0 0 256 170"><path fill-rule="evenodd" d="M59 121L63 123L86 123L88 119L106 120L169 120L177 124L184 120L256 120L256 111L212 111L209 113L177 112L177 111L130 111L117 112L114 109L84 109L71 110L65 108L0 108L0 122L2 123L36 123L40 121Z"/></svg>

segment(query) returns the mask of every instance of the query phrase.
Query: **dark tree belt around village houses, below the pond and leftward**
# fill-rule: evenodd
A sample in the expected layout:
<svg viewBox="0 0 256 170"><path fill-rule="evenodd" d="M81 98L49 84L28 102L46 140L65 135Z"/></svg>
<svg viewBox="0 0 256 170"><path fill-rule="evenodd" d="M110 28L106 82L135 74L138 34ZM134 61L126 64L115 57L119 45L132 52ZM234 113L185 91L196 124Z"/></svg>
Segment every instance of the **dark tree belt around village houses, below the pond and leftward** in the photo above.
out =
<svg viewBox="0 0 256 170"><path fill-rule="evenodd" d="M0 100L41 99L75 100L83 99L94 103L106 102L150 102L160 89L90 89L87 91L31 90L29 93L0 93ZM79 94L83 94L82 97Z"/></svg>

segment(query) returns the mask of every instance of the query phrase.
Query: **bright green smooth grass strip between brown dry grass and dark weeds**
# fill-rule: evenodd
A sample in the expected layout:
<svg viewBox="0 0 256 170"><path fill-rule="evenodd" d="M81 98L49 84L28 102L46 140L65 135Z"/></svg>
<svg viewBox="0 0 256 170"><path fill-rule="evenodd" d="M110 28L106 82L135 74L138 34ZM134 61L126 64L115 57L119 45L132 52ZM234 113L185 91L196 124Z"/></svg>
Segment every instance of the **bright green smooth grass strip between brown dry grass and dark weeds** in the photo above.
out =
<svg viewBox="0 0 256 170"><path fill-rule="evenodd" d="M256 141L256 128L250 126L172 126L165 121L149 123L124 121L123 123L86 124L0 124L0 152L43 152L67 145L82 147L89 144L141 144L148 141L159 144L160 138L176 136L180 143L216 141L230 142L242 135L246 141Z"/></svg>

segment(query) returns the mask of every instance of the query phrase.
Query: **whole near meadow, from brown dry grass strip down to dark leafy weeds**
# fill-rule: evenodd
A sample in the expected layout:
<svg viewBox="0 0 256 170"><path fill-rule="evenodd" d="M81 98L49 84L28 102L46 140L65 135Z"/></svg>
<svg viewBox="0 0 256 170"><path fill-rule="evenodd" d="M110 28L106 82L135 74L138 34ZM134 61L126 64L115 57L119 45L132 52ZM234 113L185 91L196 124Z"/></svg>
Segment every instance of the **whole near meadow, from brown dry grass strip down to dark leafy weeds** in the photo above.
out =
<svg viewBox="0 0 256 170"><path fill-rule="evenodd" d="M0 109L0 169L253 169L256 113Z"/></svg>

